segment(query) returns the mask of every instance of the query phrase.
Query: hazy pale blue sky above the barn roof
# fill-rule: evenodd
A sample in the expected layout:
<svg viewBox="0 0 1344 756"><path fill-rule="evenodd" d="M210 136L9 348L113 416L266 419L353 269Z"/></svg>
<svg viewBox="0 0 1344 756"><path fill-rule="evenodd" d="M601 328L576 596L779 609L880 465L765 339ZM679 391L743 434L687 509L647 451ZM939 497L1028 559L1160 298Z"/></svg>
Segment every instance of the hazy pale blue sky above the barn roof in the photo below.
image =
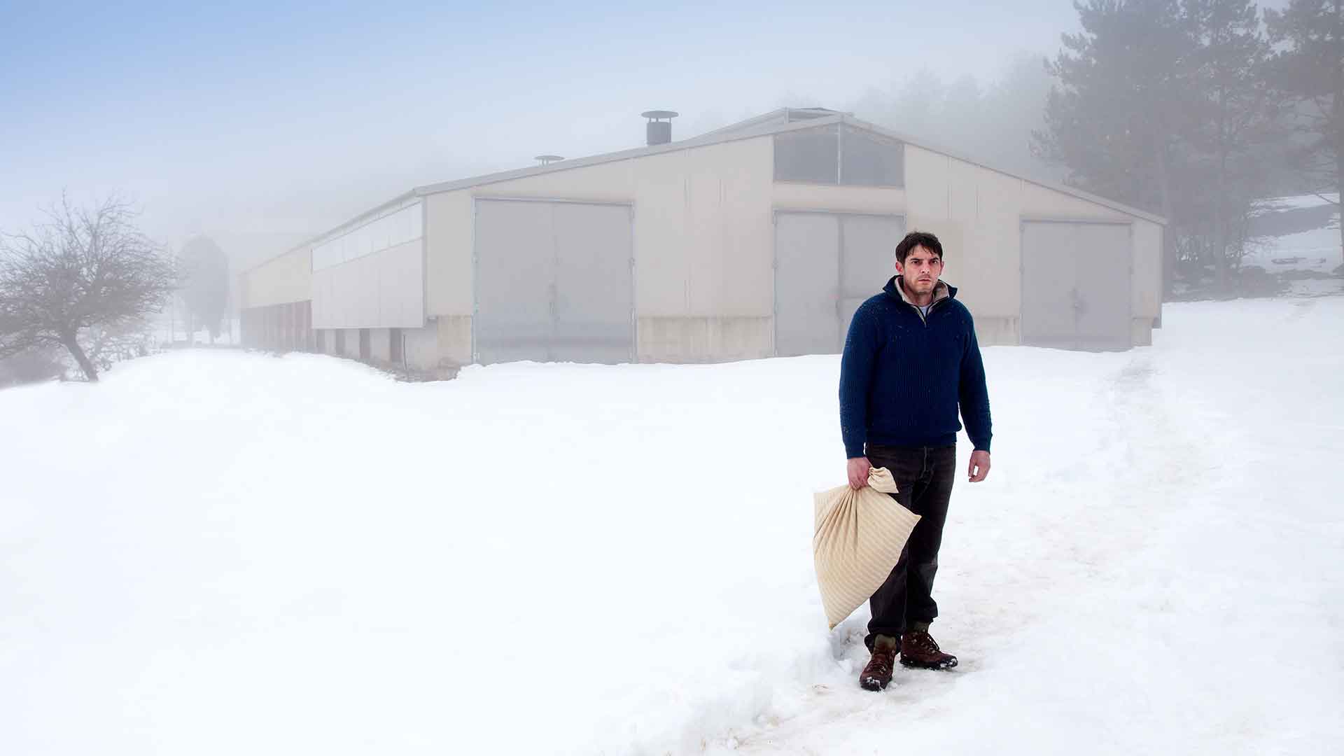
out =
<svg viewBox="0 0 1344 756"><path fill-rule="evenodd" d="M65 188L146 230L308 234L414 184L844 108L921 67L1050 54L1068 0L191 4L0 0L0 229ZM239 242L243 243L243 242Z"/></svg>

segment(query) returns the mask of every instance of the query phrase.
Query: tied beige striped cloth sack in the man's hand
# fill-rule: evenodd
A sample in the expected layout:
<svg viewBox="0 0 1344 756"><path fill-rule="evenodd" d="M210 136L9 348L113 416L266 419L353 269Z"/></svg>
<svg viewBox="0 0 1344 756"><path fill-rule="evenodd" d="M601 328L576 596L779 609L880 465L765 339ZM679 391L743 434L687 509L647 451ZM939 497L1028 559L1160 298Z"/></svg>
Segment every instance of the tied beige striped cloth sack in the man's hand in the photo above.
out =
<svg viewBox="0 0 1344 756"><path fill-rule="evenodd" d="M891 471L875 467L864 488L841 486L813 496L812 552L831 630L886 582L919 522L919 515L887 495L895 492Z"/></svg>

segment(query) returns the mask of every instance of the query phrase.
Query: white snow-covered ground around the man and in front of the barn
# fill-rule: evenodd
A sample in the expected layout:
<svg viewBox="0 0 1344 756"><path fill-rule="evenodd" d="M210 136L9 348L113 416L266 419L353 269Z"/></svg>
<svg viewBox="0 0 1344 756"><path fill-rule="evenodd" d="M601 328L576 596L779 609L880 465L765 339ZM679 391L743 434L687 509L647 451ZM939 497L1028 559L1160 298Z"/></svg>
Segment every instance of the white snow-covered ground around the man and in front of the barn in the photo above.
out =
<svg viewBox="0 0 1344 756"><path fill-rule="evenodd" d="M961 666L882 694L812 573L835 356L399 383L198 350L4 390L0 753L1340 752L1341 323L986 348Z"/></svg>

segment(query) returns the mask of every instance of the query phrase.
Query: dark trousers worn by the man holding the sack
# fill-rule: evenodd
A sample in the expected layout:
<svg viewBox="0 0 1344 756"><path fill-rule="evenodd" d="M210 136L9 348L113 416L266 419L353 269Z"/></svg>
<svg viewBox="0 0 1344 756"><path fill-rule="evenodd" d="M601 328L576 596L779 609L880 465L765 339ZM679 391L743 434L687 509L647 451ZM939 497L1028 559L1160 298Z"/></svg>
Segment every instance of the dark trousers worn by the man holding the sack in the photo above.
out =
<svg viewBox="0 0 1344 756"><path fill-rule="evenodd" d="M938 573L938 547L948 519L948 500L956 479L957 447L868 445L872 467L891 471L899 494L891 498L919 515L900 561L887 581L868 600L872 621L864 642L872 648L878 635L899 638L911 623L933 621L938 604L933 600L933 578Z"/></svg>

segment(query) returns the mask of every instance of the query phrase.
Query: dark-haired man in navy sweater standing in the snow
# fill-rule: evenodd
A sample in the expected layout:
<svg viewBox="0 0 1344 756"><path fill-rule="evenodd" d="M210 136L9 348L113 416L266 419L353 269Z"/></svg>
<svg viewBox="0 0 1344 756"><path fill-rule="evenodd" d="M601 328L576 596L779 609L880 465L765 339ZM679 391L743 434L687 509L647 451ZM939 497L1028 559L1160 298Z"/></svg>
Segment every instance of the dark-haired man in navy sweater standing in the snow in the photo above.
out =
<svg viewBox="0 0 1344 756"><path fill-rule="evenodd" d="M929 635L938 616L933 578L956 478L957 409L974 447L968 474L978 483L989 474L989 393L970 312L941 274L938 238L906 234L896 245L896 274L853 313L840 361L849 486L867 486L868 469L886 467L900 490L892 498L921 515L900 561L868 601L864 643L872 658L859 677L866 690L887 687L898 654L907 667L957 666Z"/></svg>

